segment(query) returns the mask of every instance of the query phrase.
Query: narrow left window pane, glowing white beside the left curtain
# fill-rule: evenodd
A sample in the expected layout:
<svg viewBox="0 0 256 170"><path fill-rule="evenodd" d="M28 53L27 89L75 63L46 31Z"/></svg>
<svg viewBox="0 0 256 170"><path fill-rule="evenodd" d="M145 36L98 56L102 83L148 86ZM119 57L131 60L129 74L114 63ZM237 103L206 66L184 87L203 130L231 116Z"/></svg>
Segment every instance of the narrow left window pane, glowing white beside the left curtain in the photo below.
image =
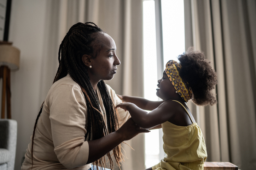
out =
<svg viewBox="0 0 256 170"><path fill-rule="evenodd" d="M143 2L143 43L144 43L144 97L157 101L157 65L156 65L156 20L155 1ZM145 166L149 168L159 163L158 130L145 134Z"/></svg>

